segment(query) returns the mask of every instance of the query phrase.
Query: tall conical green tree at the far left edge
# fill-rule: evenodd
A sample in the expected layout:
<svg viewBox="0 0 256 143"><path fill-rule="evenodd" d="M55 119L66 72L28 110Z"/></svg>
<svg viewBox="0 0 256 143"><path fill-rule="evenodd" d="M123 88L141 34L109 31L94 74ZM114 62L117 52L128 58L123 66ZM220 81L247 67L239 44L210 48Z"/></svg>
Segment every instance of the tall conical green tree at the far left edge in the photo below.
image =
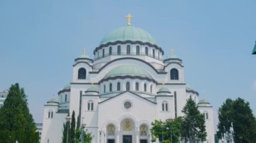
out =
<svg viewBox="0 0 256 143"><path fill-rule="evenodd" d="M39 134L26 97L18 83L9 88L3 107L0 108L0 142L38 142Z"/></svg>

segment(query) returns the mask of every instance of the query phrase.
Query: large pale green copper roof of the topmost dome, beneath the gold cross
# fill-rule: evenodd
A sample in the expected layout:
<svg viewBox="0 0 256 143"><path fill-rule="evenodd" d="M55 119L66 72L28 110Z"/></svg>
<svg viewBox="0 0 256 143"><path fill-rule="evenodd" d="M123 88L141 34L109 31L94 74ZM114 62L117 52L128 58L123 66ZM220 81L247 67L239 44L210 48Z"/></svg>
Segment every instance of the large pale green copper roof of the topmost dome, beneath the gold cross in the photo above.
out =
<svg viewBox="0 0 256 143"><path fill-rule="evenodd" d="M141 41L141 42L149 42L151 44L156 44L156 40L145 30L141 30L140 28L135 28L133 26L125 26L121 28L117 28L112 32L108 33L100 42L101 44L106 44L108 42L116 42L116 41Z"/></svg>

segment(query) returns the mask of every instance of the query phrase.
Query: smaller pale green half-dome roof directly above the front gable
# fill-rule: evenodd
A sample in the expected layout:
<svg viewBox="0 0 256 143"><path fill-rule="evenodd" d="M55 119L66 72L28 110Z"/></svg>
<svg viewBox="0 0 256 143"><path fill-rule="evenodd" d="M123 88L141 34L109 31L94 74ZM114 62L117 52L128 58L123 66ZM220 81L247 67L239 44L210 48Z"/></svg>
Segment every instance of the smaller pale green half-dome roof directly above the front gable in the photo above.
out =
<svg viewBox="0 0 256 143"><path fill-rule="evenodd" d="M108 77L117 77L117 76L122 76L122 77L138 76L138 77L146 77L146 78L152 79L151 75L146 70L132 64L125 64L125 65L117 66L116 68L113 68L113 70L110 70L110 72L108 72L105 75L104 79Z"/></svg>

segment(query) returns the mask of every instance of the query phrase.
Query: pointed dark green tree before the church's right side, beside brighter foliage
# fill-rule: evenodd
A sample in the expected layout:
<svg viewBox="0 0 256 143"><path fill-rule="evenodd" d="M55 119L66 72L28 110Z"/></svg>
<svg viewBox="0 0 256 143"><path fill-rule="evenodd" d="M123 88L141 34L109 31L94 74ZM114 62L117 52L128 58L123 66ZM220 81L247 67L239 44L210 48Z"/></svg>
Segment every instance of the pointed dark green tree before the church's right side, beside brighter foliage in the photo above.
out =
<svg viewBox="0 0 256 143"><path fill-rule="evenodd" d="M195 102L189 98L182 112L181 138L185 142L203 142L206 140L205 119Z"/></svg>

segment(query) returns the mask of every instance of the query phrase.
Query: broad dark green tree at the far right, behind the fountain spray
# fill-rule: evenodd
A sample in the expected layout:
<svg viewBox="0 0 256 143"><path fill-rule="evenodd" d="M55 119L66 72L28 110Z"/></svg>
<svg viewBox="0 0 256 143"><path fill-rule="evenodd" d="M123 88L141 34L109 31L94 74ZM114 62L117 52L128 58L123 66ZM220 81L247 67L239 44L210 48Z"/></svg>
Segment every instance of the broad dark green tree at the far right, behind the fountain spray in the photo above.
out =
<svg viewBox="0 0 256 143"><path fill-rule="evenodd" d="M232 127L234 142L256 142L256 120L249 102L241 98L234 101L226 99L218 110L218 118L219 138L224 138L224 134L230 134Z"/></svg>

